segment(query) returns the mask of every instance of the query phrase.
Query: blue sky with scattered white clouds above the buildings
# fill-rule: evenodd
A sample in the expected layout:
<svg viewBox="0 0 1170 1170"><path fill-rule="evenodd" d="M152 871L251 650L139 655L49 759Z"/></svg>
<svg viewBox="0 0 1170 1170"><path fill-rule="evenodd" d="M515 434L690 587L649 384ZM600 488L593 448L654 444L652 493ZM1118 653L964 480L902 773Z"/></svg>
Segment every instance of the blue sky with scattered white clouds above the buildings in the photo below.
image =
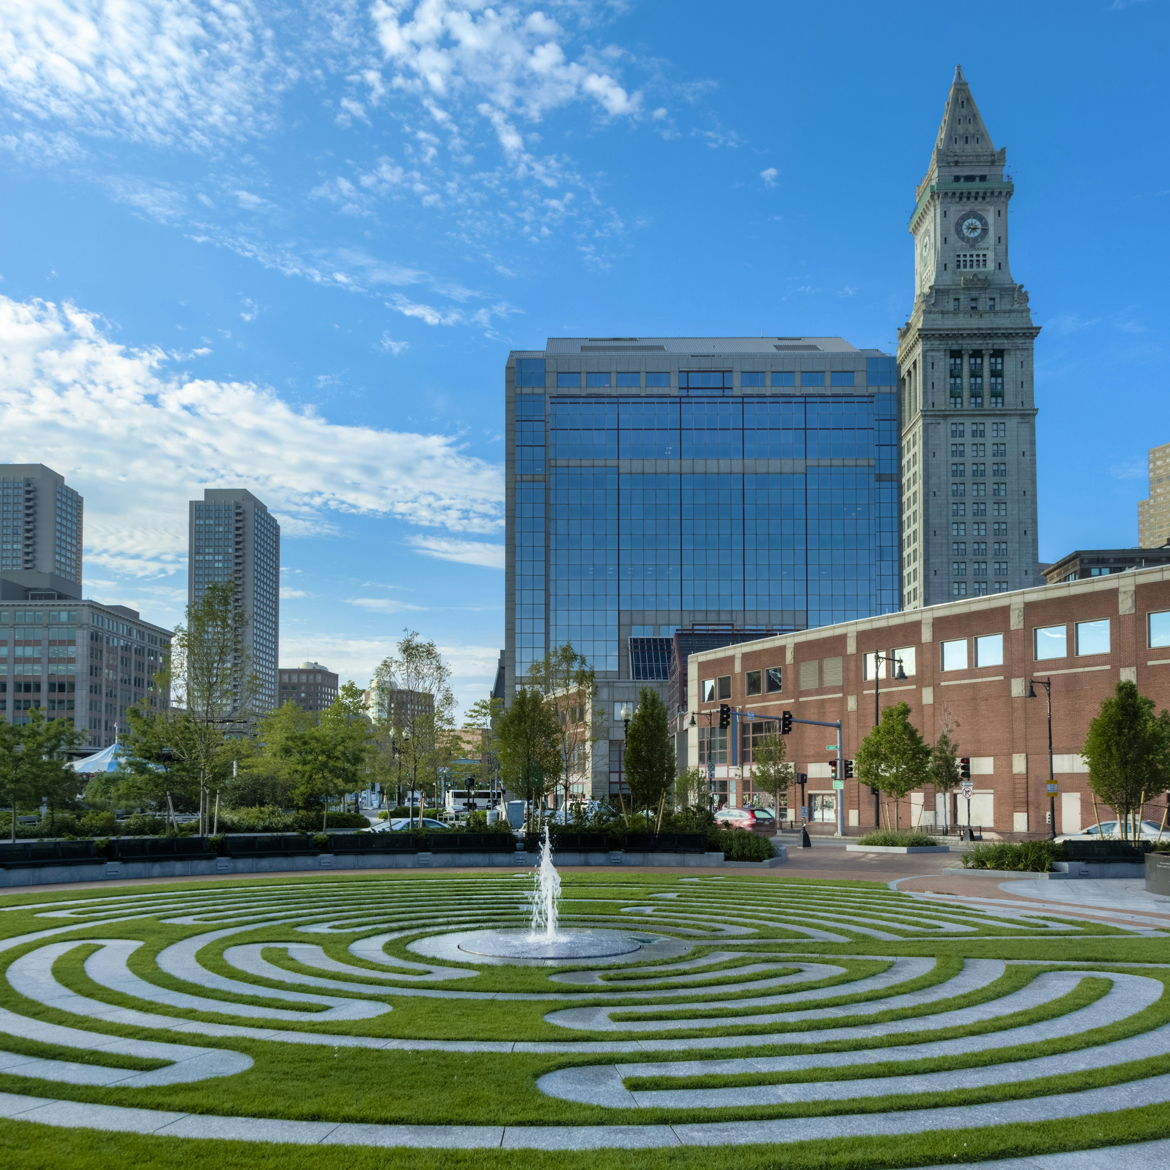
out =
<svg viewBox="0 0 1170 1170"><path fill-rule="evenodd" d="M186 501L283 526L281 661L503 638L503 365L556 335L893 351L956 62L1017 183L1040 553L1137 541L1165 407L1164 0L0 0L0 461L170 625Z"/></svg>

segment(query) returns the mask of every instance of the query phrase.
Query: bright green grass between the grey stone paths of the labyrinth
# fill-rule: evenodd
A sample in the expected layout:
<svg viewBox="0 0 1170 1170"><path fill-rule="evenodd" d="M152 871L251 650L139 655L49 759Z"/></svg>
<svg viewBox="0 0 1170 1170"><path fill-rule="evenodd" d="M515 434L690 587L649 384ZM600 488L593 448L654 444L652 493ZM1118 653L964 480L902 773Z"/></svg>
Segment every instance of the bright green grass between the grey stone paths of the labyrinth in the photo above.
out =
<svg viewBox="0 0 1170 1170"><path fill-rule="evenodd" d="M1127 964L1168 964L1134 969L1134 973L1164 983L1170 979L1170 943L1165 937L1135 937L1102 923L1047 916L1032 921L994 920L951 904L934 906L890 893L883 885L868 882L799 881L756 875L718 880L688 880L684 874L563 874L562 906L566 925L580 924L626 929L639 937L668 937L688 944L686 954L646 963L636 955L610 968L577 968L606 972L601 985L558 982L551 976L574 970L559 968L493 965L467 955L460 965L475 970L470 978L435 979L433 983L400 980L412 990L440 989L477 993L484 998L440 998L431 994L395 993L395 975L402 970L350 954L357 940L388 935L387 956L414 964L442 968L411 950L411 944L431 935L483 927L515 927L526 922L523 909L529 882L511 873L434 873L378 876L328 874L312 878L273 878L263 881L71 890L51 895L18 894L0 897L0 938L66 932L33 937L19 947L0 951L0 1007L29 1019L83 1028L109 1037L171 1041L206 1048L226 1048L253 1058L252 1068L233 1076L188 1083L142 1088L92 1087L22 1076L19 1069L0 1074L0 1093L27 1094L57 1100L129 1106L139 1109L180 1110L222 1116L270 1117L303 1121L365 1122L373 1124L484 1124L484 1126L658 1126L703 1122L757 1121L764 1119L859 1115L947 1107L984 1101L1011 1101L1069 1093L1104 1085L1123 1083L1170 1072L1170 1052L1149 1060L1108 1068L1049 1076L1044 1081L1007 1081L979 1089L932 1092L899 1096L865 1096L867 1079L928 1073L951 1068L987 1067L1005 1060L1052 1057L1101 1045L1170 1023L1170 993L1163 992L1144 1012L1108 1026L1075 1035L1030 1044L1005 1052L991 1049L923 1060L915 1047L923 1042L959 1035L986 1034L1007 1027L1057 1019L1089 1007L1112 987L1110 970ZM659 895L668 895L660 897ZM670 896L676 895L676 896ZM645 907L655 907L646 911ZM948 929L963 928L963 929ZM810 931L813 934L811 935ZM835 937L815 937L815 934ZM235 980L238 987L205 987L163 971L158 955L185 938L206 936L199 964L206 971ZM97 954L96 940L138 940L128 961L129 969L160 989L183 991L214 1003L214 1009L173 1009L152 1004L97 982L87 971L87 959ZM51 966L61 987L112 1007L128 1007L157 1017L158 1026L140 1027L106 1019L81 1017L50 1003L18 993L7 978L8 968L22 956L49 943L83 941L62 954ZM225 951L241 944L262 944L264 958L292 976L315 976L357 983L359 991L329 991L270 979L233 966ZM321 947L329 959L351 970L335 973L289 956L280 944ZM710 965L674 970L674 965L707 955L745 952L717 958ZM931 968L885 990L852 991L862 978L881 973L901 957L934 959ZM886 997L913 994L937 986L963 970L964 959L1013 959L1004 973L966 993L930 1000L921 1006L863 1013ZM796 970L803 961L834 964L844 973L817 978L807 984L764 986L766 980ZM741 969L760 962L766 971L746 975ZM1002 997L1027 987L1047 964L1075 962L1093 976L1068 993L1011 1016L978 1020L962 1027L940 1025L943 1013L975 1005L993 1005ZM636 965L636 969L633 966ZM439 972L441 973L441 971ZM681 982L680 976L695 973ZM631 986L633 979L648 980ZM380 980L380 982L379 982ZM383 1002L392 1010L359 1020L321 1020L319 1007L292 999L269 999L249 989L277 992L307 991L356 1002ZM831 989L826 998L803 998L817 989ZM613 999L614 992L634 992ZM666 992L681 991L681 994ZM495 998L522 994L534 998ZM571 996L571 999L549 999ZM782 1004L756 1005L759 997L784 996ZM46 994L51 1000L51 996ZM749 1003L744 1003L748 1000ZM234 1004L281 1009L297 1013L295 1020L242 1018L232 1013ZM773 1012L859 1005L826 1019L797 1024L743 1024L739 1017ZM222 1011L220 1006L222 1005ZM665 1005L672 1009L662 1011ZM677 1005L695 1005L676 1011ZM701 1005L701 1006L700 1006ZM565 1007L605 1007L615 1023L683 1018L695 1026L669 1031L605 1031L569 1028L545 1019ZM704 1044L721 1037L759 1037L749 1047L683 1048L679 1052L438 1052L391 1051L301 1042L276 1042L257 1035L205 1037L166 1027L167 1019L204 1021L252 1030L277 1028L343 1037L394 1038L410 1041L542 1041L556 1045L669 1039ZM824 1042L792 1044L785 1032L815 1033L852 1025L896 1023L901 1031L849 1040L826 1038ZM19 1031L0 1039L0 1048L29 1057L67 1060L126 1069L160 1067L156 1060L90 1052L57 1044L40 1044ZM549 1096L537 1080L552 1071L573 1066L636 1064L648 1060L718 1060L783 1057L818 1052L888 1048L889 1060L854 1067L801 1069L786 1073L717 1073L688 1078L649 1076L627 1081L631 1089L735 1088L753 1085L858 1080L858 1095L847 1101L812 1101L800 1104L739 1106L716 1109L606 1108ZM901 1137L866 1137L810 1141L792 1145L725 1147L669 1150L591 1150L589 1152L539 1154L531 1150L413 1150L333 1147L330 1164L340 1166L411 1168L463 1164L481 1166L605 1166L673 1168L708 1163L713 1156L732 1166L909 1166L983 1157L1021 1156L1064 1149L1131 1142L1170 1136L1170 1113L1164 1107L1131 1109L1100 1117L1066 1119L991 1127L980 1130L947 1130ZM296 1145L200 1141L101 1134L0 1122L0 1148L13 1166L108 1166L115 1162L172 1166L298 1168L312 1158L319 1165L321 1150ZM308 1161L303 1162L309 1165ZM704 1165L703 1170L707 1170Z"/></svg>

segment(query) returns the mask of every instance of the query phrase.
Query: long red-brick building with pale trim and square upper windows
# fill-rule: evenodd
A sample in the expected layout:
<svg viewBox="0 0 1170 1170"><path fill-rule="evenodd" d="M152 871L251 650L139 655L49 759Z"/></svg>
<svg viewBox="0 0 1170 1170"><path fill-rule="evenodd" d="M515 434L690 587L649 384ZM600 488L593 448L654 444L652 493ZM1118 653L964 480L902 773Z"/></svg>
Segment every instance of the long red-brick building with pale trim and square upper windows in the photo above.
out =
<svg viewBox="0 0 1170 1170"><path fill-rule="evenodd" d="M680 757L706 766L709 750L720 803L750 803L751 736L790 710L797 718L841 720L844 755L852 759L874 723L875 653L893 653L906 675L895 679L893 669L878 663L881 706L909 703L913 722L931 743L948 721L955 725L959 755L971 758L972 824L1007 839L1048 833L1047 703L1042 687L1035 687L1037 698L1027 693L1030 680L1051 677L1057 832L1076 832L1096 815L1079 752L1101 701L1128 679L1158 710L1170 707L1170 566L968 598L691 654L690 706L675 724L686 738ZM756 718L737 715L721 732L721 702ZM845 832L863 833L875 823L875 798L856 779L833 791L826 744L834 737L830 728L796 724L789 760L808 777L814 830L835 830L841 799ZM1155 797L1147 815L1157 819L1164 793ZM789 799L797 814L799 797ZM1102 807L1100 815L1106 812ZM901 805L903 827L944 818L965 824L965 801L952 794L948 808L929 785Z"/></svg>

